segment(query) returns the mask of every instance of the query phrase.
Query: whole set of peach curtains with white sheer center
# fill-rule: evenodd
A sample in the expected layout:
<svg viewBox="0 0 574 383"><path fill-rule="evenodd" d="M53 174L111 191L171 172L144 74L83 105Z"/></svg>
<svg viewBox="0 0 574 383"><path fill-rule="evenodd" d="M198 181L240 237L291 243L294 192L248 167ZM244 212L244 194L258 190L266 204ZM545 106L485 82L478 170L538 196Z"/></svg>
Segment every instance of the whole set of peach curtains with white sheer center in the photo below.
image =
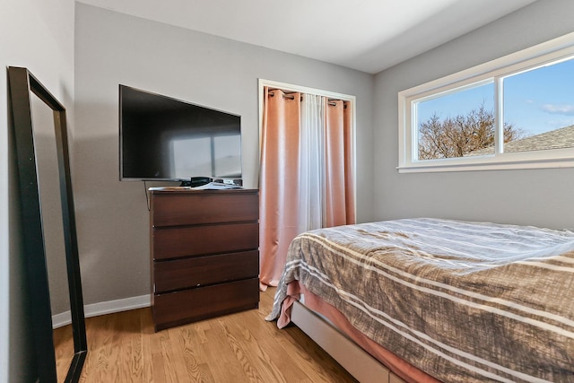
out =
<svg viewBox="0 0 574 383"><path fill-rule="evenodd" d="M315 97L319 96L264 90L259 182L262 290L279 283L287 249L300 232L355 222L351 109L348 101ZM317 129L309 118L317 119ZM316 214L317 207L320 222L306 216Z"/></svg>

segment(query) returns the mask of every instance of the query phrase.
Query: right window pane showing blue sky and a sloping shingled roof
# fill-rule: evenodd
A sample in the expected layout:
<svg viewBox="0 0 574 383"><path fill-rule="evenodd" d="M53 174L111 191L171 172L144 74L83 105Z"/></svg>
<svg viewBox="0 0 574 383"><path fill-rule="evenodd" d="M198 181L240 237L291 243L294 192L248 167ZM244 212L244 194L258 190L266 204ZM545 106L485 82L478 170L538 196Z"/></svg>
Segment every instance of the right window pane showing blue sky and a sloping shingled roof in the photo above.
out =
<svg viewBox="0 0 574 383"><path fill-rule="evenodd" d="M503 152L574 147L574 59L506 77Z"/></svg>

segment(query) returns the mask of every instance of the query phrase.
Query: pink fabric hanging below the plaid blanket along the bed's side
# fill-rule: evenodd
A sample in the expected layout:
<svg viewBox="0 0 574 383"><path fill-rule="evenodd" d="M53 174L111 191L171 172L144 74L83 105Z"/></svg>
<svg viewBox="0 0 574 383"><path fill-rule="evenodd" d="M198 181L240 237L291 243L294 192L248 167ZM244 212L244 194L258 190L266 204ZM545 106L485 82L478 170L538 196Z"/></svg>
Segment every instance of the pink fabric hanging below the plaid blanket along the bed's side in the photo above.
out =
<svg viewBox="0 0 574 383"><path fill-rule="evenodd" d="M344 315L334 306L321 300L317 295L309 292L298 281L293 281L287 286L287 298L283 300L281 316L277 320L277 326L283 328L291 322L291 306L295 300L300 300L300 294L305 296L305 306L326 317L341 332L350 337L363 350L370 353L375 359L384 364L388 370L408 383L439 383L422 370L389 352L380 344L375 343L366 335L351 325Z"/></svg>

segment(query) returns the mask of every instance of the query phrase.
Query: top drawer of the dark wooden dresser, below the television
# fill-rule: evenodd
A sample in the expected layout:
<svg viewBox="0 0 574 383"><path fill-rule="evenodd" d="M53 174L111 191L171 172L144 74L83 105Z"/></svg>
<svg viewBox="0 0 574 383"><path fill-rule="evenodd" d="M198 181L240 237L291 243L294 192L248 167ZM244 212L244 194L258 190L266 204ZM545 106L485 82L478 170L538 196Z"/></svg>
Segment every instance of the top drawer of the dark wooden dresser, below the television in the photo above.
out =
<svg viewBox="0 0 574 383"><path fill-rule="evenodd" d="M152 226L178 226L259 220L257 190L154 194Z"/></svg>

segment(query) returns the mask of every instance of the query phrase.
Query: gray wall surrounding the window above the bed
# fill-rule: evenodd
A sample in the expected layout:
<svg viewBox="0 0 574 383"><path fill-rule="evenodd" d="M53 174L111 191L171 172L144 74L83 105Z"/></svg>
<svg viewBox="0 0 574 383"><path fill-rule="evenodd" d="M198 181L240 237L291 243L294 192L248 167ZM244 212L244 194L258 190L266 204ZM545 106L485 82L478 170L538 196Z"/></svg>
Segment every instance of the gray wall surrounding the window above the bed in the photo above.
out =
<svg viewBox="0 0 574 383"><path fill-rule="evenodd" d="M397 92L574 30L570 0L540 0L376 75L375 219L416 216L574 228L574 169L398 174Z"/></svg>

